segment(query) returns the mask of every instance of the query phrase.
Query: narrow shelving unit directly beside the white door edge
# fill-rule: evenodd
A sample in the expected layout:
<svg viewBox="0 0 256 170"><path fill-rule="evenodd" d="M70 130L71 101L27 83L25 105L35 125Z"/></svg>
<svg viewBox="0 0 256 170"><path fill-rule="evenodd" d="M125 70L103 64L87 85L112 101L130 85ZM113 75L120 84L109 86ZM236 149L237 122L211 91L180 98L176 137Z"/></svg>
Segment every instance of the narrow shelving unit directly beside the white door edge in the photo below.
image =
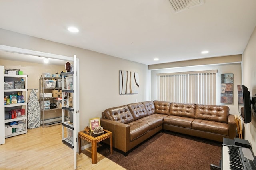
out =
<svg viewBox="0 0 256 170"><path fill-rule="evenodd" d="M64 95L64 93L74 93L74 90L64 89L64 85L63 85L64 76L72 76L72 75L73 75L73 72L61 73L62 96ZM68 96L70 96L70 95L68 95ZM64 106L64 98L62 98L62 142L64 144L68 145L70 148L74 148L74 139L76 138L76 134L74 134L74 124L70 123L70 121L66 121L65 111L69 111L69 114L74 114L73 107L70 107L69 105ZM66 128L66 130L65 130L65 128ZM66 131L66 134L65 134L65 131Z"/></svg>

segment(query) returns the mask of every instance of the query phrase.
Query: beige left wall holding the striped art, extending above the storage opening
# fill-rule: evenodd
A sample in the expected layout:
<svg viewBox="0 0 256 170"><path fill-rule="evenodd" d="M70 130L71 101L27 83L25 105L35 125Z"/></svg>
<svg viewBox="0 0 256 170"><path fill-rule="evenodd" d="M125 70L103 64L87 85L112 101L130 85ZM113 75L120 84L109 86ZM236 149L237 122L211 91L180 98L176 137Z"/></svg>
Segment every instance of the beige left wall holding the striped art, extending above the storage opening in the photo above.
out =
<svg viewBox="0 0 256 170"><path fill-rule="evenodd" d="M1 45L69 57L77 55L80 60L80 130L89 125L90 118L101 117L104 109L150 99L150 72L147 65L3 29L0 29L0 37ZM119 70L139 74L138 94L119 95ZM47 71L52 72L50 69Z"/></svg>

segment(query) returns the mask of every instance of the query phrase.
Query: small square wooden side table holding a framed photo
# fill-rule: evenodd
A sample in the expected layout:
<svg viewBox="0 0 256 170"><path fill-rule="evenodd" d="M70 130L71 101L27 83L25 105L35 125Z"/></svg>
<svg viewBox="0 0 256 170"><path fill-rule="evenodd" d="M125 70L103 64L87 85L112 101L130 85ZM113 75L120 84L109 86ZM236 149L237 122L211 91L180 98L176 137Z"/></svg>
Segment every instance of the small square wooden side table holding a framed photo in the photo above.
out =
<svg viewBox="0 0 256 170"><path fill-rule="evenodd" d="M92 164L97 164L97 143L110 138L110 154L112 154L112 132L104 130L104 134L100 136L93 136L92 132L88 134L85 131L78 132L78 144L79 144L79 154L81 154L81 138L90 142L92 144Z"/></svg>

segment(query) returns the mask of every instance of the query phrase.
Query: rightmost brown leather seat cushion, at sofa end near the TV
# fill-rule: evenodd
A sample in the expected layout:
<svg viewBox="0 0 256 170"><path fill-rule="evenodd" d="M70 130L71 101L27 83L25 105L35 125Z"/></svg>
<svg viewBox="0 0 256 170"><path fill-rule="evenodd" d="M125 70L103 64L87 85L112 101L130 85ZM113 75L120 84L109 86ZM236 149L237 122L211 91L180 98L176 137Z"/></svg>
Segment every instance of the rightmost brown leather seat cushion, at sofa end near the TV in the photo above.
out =
<svg viewBox="0 0 256 170"><path fill-rule="evenodd" d="M192 122L192 129L216 134L228 135L228 124L222 122L195 119Z"/></svg>

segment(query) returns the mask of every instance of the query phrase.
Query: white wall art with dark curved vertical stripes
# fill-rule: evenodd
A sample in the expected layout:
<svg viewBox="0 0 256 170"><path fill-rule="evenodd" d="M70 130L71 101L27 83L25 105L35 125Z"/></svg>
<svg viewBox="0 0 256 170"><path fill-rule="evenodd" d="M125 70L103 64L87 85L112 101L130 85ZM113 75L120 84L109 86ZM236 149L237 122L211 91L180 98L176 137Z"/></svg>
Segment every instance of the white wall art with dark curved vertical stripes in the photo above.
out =
<svg viewBox="0 0 256 170"><path fill-rule="evenodd" d="M132 71L119 70L119 94L139 93L139 75Z"/></svg>

